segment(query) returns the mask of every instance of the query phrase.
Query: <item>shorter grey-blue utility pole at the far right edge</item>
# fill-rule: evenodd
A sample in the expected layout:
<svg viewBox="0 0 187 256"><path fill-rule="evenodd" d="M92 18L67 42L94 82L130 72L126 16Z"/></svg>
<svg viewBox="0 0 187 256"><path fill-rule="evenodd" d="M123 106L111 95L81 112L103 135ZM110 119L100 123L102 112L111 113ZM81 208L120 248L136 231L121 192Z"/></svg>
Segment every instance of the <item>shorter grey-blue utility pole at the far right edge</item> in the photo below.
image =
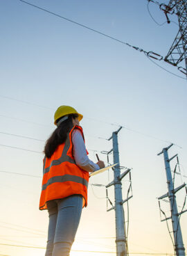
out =
<svg viewBox="0 0 187 256"><path fill-rule="evenodd" d="M177 210L177 202L176 202L176 196L175 193L179 191L180 189L184 188L186 184L182 184L178 188L174 188L174 184L172 181L172 174L171 174L171 169L170 169L170 161L177 157L177 154L175 154L174 157L171 157L169 159L168 157L168 149L172 147L173 144L169 145L168 147L163 148L162 152L158 154L163 154L164 157L164 163L166 167L166 178L167 178L167 184L168 184L168 193L165 195L162 195L159 200L168 197L170 200L170 209L171 209L171 217L164 219L163 221L167 221L168 219L172 219L172 230L173 230L173 235L174 235L174 241L175 241L175 252L177 256L185 256L185 248L184 248L184 243L182 239L182 234L181 234L181 226L179 223L179 216L183 214L185 211L181 211L178 213Z"/></svg>

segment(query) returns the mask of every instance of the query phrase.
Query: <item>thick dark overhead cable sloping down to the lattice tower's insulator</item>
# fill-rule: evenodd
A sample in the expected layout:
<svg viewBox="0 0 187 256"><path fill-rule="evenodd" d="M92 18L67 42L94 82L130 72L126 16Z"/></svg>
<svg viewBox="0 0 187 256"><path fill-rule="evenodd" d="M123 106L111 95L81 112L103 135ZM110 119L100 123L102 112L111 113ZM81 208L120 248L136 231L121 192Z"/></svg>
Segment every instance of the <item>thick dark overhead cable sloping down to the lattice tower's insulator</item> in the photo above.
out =
<svg viewBox="0 0 187 256"><path fill-rule="evenodd" d="M163 56L161 56L160 54L155 53L154 51L145 51L144 49L141 49L141 48L136 47L136 46L134 46L134 45L130 45L128 42L124 42L124 41L122 41L122 40L118 40L117 38L114 38L114 37L111 36L111 35L107 35L107 34L105 34L105 33L103 33L103 32L97 31L96 29L91 29L89 26L85 26L85 25L83 25L83 24L80 24L80 23L78 23L78 22L73 21L72 19L68 19L68 18L66 18L66 17L63 17L62 15L58 15L57 13L53 13L53 12L51 12L50 10L46 10L46 9L44 9L44 8L42 8L42 7L35 6L33 3L29 3L29 2L24 1L24 0L19 0L19 1L21 1L21 2L23 2L23 3L26 3L26 4L28 4L29 6L33 6L33 7L37 8L37 9L39 9L39 10L43 10L43 11L46 12L46 13L50 13L51 15L55 15L55 16L57 16L57 17L60 17L61 19L65 19L66 21L71 22L71 23L73 23L73 24L76 24L76 25L78 25L78 26L82 26L84 29L89 29L90 31L93 31L93 32L98 33L98 34L100 34L100 35L103 35L103 36L105 36L105 37L107 37L107 38L110 38L110 39L112 39L112 40L115 40L116 42L120 42L120 43L122 43L123 45L127 45L128 47L131 47L131 48L135 49L136 51L143 52L143 53L146 54L148 57L154 58L154 59L157 60L157 61L163 61L163 60L164 60ZM181 70L179 69L179 68L181 68L181 67L177 67L177 68L178 68L179 71L181 71ZM186 72L187 72L187 70L186 70ZM172 73L171 73L171 74L172 74Z"/></svg>

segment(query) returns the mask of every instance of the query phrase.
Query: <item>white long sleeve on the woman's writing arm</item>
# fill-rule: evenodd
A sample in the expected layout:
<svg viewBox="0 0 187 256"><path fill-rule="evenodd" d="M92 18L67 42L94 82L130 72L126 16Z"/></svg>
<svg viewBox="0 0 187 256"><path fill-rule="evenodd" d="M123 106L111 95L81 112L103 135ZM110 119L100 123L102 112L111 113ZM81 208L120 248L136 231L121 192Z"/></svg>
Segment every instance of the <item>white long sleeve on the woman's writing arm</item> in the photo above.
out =
<svg viewBox="0 0 187 256"><path fill-rule="evenodd" d="M94 170L99 170L100 167L97 163L91 161L87 156L87 150L82 138L82 134L78 129L72 132L72 142L73 142L73 157L75 163L82 169L87 170L87 172L93 172Z"/></svg>

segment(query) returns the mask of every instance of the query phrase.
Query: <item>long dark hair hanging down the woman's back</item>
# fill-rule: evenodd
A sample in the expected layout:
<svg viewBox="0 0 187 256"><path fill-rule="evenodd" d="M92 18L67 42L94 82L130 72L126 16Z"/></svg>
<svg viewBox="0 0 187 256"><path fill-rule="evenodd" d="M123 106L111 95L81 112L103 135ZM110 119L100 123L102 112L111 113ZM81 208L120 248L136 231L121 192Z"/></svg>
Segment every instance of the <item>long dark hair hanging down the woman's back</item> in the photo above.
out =
<svg viewBox="0 0 187 256"><path fill-rule="evenodd" d="M78 118L78 114L70 114L68 119L61 122L61 124L53 131L53 134L46 141L46 145L44 147L44 154L47 158L50 158L52 154L55 152L58 145L64 143L66 141L67 135L69 131L73 128L73 120ZM61 118L57 119L57 122L60 121Z"/></svg>

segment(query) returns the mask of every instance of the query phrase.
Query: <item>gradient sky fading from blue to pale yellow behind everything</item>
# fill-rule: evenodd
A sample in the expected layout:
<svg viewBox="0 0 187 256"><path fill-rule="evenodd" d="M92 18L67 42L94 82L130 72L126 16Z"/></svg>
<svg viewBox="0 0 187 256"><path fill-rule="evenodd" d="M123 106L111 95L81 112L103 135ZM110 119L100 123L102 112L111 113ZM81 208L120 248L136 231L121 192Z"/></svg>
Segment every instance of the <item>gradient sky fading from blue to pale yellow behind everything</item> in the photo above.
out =
<svg viewBox="0 0 187 256"><path fill-rule="evenodd" d="M174 23L177 17L172 15L172 23L163 24L165 15L150 3L152 16L163 24L158 26L148 13L146 0L30 0L30 3L161 56L166 56L179 29ZM93 161L96 161L93 150L98 150L100 159L106 162L105 154L100 151L112 148L112 141L99 137L109 138L118 125L125 127L118 134L118 144L121 166L133 168L130 253L173 253L166 223L160 221L157 198L167 192L167 184L163 155L157 154L175 143L168 153L170 157L179 154L183 175L176 175L175 186L186 182L186 80L157 67L139 51L19 0L1 0L0 19L0 255L44 255L48 214L38 209L43 159L39 152L55 129L54 111L63 104L74 106L84 115L80 125ZM185 78L176 67L163 61L157 64ZM109 160L112 163L112 155ZM175 163L175 160L171 163L172 170ZM115 255L114 211L106 211L105 187L91 186L106 185L112 178L110 170L90 179L88 207L82 211L71 256L103 255L78 250ZM125 177L123 199L127 197L129 184L129 177ZM179 211L184 196L184 190L177 194ZM109 188L109 198L114 202L114 187ZM161 202L161 206L170 216L168 202ZM186 226L183 214L181 230L187 247ZM5 243L41 249L2 245Z"/></svg>

